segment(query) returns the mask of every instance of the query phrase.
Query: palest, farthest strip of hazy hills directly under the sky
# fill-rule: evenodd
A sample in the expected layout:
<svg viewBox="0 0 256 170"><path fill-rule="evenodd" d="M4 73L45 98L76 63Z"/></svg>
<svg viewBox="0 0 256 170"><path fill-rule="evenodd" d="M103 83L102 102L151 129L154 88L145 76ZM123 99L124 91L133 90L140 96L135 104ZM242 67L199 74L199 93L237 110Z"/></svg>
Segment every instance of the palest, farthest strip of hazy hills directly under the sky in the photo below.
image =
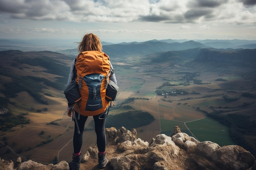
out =
<svg viewBox="0 0 256 170"><path fill-rule="evenodd" d="M80 40L65 39L33 39L16 40L0 39L0 51L56 51L67 55L77 55L76 42ZM102 42L103 50L114 57L122 55L143 55L160 51L179 51L193 48L216 48L216 49L255 49L256 40L149 40L145 42ZM129 46L121 46L129 45ZM120 48L120 50L119 50ZM71 50L73 50L73 52ZM141 49L141 50L140 50ZM68 50L68 51L65 51ZM113 50L113 51L112 51Z"/></svg>

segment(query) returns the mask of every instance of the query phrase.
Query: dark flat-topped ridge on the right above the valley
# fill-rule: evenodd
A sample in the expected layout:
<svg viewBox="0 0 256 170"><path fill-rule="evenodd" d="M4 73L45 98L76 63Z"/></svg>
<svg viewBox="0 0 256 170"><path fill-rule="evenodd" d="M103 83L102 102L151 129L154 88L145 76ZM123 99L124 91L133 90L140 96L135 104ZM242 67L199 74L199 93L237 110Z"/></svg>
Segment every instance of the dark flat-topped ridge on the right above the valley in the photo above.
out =
<svg viewBox="0 0 256 170"><path fill-rule="evenodd" d="M169 63L185 64L189 62L216 62L246 64L247 66L255 66L256 49L187 49L181 51L158 52L148 55L150 64Z"/></svg>

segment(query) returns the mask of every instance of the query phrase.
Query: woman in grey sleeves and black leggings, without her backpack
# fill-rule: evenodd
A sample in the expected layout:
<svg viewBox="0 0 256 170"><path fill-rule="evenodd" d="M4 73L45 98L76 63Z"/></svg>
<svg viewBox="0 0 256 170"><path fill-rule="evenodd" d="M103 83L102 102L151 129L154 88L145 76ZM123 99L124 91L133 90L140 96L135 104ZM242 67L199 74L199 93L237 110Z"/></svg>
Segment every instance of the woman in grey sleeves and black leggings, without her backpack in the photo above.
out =
<svg viewBox="0 0 256 170"><path fill-rule="evenodd" d="M82 42L80 42L78 46L78 51L80 53L82 52L102 52L102 45L99 38L94 35L93 33L89 33L84 35ZM104 54L106 55L106 54ZM117 84L117 80L115 77L115 73L113 71L112 64L110 64L110 76L109 78ZM88 64L90 65L90 64ZM70 75L68 78L67 85L72 82L75 77L73 73L73 68L75 66L75 60L72 62L72 66L70 67ZM103 113L99 115L93 115L94 124L95 124L95 132L97 135L97 146L98 146L98 157L99 157L99 168L105 168L108 163L108 158L106 157L106 135L105 135L105 122L106 117L108 115L109 106L107 108L104 108ZM67 115L72 117L73 114L75 114L76 117L78 117L77 110L73 110L72 106L67 107ZM80 162L81 162L81 147L83 144L83 129L85 126L85 121L87 120L88 115L82 114L80 115L80 119L77 119L77 124L75 123L74 128L74 137L73 137L73 147L74 147L74 153L72 157L72 161L69 163L70 170L79 170L80 168ZM78 127L77 127L78 126ZM81 133L79 134L78 131L81 130Z"/></svg>

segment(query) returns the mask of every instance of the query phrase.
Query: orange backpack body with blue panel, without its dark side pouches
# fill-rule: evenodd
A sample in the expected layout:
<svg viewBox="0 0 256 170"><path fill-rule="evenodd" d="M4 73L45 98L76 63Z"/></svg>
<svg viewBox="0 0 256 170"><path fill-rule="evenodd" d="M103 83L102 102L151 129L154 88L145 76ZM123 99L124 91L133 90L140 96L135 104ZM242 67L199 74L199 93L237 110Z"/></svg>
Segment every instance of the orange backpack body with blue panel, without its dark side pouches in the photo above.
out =
<svg viewBox="0 0 256 170"><path fill-rule="evenodd" d="M84 116L103 113L109 105L106 87L109 82L109 57L101 51L84 51L76 57L76 83L81 102L74 105L76 112Z"/></svg>

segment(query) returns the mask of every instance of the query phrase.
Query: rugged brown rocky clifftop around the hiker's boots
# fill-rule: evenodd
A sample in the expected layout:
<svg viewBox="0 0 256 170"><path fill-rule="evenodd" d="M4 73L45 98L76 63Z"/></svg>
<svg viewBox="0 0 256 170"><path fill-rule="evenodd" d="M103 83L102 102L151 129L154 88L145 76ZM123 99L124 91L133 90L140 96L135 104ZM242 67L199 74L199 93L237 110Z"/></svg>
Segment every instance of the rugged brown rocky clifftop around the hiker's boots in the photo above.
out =
<svg viewBox="0 0 256 170"><path fill-rule="evenodd" d="M172 137L157 135L150 143L122 127L106 129L107 157L105 170L256 170L255 157L240 146L220 147L211 141L199 142L175 128ZM83 155L81 170L96 170L97 146ZM66 161L43 165L35 161L0 160L0 170L69 170Z"/></svg>

